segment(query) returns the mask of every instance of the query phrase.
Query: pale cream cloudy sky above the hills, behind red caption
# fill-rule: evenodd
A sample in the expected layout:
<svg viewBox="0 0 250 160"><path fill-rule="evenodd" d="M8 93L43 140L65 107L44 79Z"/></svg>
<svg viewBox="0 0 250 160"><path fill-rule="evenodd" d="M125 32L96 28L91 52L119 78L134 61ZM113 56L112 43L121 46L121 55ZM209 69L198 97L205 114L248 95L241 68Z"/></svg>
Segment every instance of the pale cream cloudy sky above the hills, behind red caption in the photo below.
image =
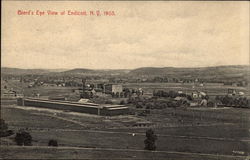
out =
<svg viewBox="0 0 250 160"><path fill-rule="evenodd" d="M3 1L1 34L4 67L133 69L250 61L248 1Z"/></svg>

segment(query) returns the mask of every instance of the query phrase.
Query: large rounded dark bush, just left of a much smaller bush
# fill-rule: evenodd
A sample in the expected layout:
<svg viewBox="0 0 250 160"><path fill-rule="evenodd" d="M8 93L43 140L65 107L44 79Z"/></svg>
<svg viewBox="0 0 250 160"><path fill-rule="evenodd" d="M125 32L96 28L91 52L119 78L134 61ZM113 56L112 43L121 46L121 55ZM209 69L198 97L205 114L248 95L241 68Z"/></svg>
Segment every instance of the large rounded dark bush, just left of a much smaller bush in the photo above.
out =
<svg viewBox="0 0 250 160"><path fill-rule="evenodd" d="M19 130L19 132L16 133L15 142L19 146L31 146L32 137L28 132Z"/></svg>

